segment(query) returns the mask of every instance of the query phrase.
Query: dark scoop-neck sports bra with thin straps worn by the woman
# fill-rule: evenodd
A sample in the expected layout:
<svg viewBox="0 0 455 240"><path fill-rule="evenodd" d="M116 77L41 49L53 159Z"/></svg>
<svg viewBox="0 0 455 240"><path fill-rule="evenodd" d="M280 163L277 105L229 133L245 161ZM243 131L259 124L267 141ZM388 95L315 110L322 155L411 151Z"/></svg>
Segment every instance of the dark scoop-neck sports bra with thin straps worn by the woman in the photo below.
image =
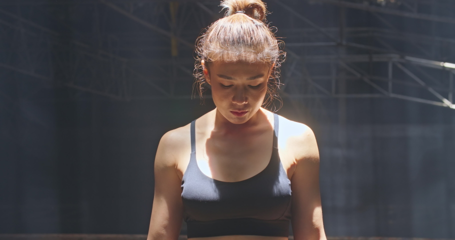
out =
<svg viewBox="0 0 455 240"><path fill-rule="evenodd" d="M289 235L290 180L279 160L278 115L274 114L273 149L264 170L241 181L213 179L196 162L195 120L191 122L191 156L181 181L187 236Z"/></svg>

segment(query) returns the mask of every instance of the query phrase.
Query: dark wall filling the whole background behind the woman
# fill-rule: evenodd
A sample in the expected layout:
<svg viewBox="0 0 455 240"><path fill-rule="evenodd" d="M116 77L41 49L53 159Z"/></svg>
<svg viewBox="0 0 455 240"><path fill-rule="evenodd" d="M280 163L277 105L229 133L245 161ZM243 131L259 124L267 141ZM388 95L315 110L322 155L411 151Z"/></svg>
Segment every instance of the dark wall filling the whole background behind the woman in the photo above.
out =
<svg viewBox="0 0 455 240"><path fill-rule="evenodd" d="M18 2L0 2L0 233L146 234L153 200L153 159L161 135L214 107L209 92L203 105L198 98L189 97L193 78L187 70L192 71L194 62L191 47L185 48L180 42L178 55L171 56L168 36L150 31L99 2ZM122 9L129 9L131 4L130 12L135 16L172 32L172 27L161 22L164 18L159 18L162 14L170 17L167 1L111 2ZM304 17L325 31L339 26L339 6L281 2L301 9ZM372 2L371 6L406 11L403 5ZM454 17L450 9L455 8L445 1L419 2L416 13ZM202 16L202 12L208 13L195 2L179 4L180 17L190 19L187 21L194 23L190 24L194 29L180 30L177 35L190 43L199 29L219 17L218 2L202 1L218 14L214 16ZM160 6L165 13L155 11ZM190 6L197 12L191 13ZM269 19L286 37L286 43L327 41L317 31L304 28L302 19L280 4L270 1L268 6L273 12ZM347 32L387 24L369 11L344 10L347 40L384 47L360 39L361 34L377 33L372 28L366 33L354 32L357 35ZM189 18L184 18L185 14ZM206 19L197 23L192 18L196 16ZM415 43L429 51L425 59L455 62L450 43L453 24L387 14L382 17L398 28L395 33L424 34L414 40L434 38L434 44ZM330 34L338 37L338 30ZM387 49L424 58L424 53L406 39L387 41L392 46ZM289 87L281 92L283 107L277 113L303 122L315 132L326 234L454 238L454 109L387 95L336 95L377 92L361 77L350 79L352 71L339 65L311 65L316 64L308 62L316 59L312 56L337 55L342 59L365 54L372 59L384 52L348 46L289 45L281 78ZM48 63L52 67L46 68ZM380 62L348 64L362 76L387 76ZM133 70L117 72L122 67L139 74ZM446 97L447 69L421 68L426 75L415 74L428 82L428 75L442 82L429 85ZM70 71L77 74L67 76ZM317 76L330 72L339 77L336 94L321 97L310 76L325 87L330 82L324 83ZM421 99L428 96L425 88L412 85L415 81L402 71L393 73L397 81L408 84L393 88L396 92ZM125 79L130 81L122 88ZM106 82L110 88L98 87ZM386 83L374 82L387 89ZM431 97L426 99L438 100Z"/></svg>

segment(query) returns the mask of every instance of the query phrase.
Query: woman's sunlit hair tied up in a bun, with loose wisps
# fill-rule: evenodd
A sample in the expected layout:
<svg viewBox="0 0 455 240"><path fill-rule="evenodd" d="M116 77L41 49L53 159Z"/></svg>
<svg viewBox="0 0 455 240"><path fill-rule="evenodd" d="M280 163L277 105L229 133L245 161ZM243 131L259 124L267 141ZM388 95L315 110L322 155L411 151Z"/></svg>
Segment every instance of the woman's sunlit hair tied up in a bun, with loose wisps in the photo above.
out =
<svg viewBox="0 0 455 240"><path fill-rule="evenodd" d="M202 61L207 68L209 62L215 60L266 62L270 66L273 64L273 69L262 106L267 107L273 99L278 99L282 105L277 89L281 84L279 67L285 52L280 50L283 42L276 39L273 28L265 23L265 3L261 0L223 0L221 6L227 9L224 17L209 25L196 40L193 87L197 86L203 99L202 93L209 85L205 81Z"/></svg>

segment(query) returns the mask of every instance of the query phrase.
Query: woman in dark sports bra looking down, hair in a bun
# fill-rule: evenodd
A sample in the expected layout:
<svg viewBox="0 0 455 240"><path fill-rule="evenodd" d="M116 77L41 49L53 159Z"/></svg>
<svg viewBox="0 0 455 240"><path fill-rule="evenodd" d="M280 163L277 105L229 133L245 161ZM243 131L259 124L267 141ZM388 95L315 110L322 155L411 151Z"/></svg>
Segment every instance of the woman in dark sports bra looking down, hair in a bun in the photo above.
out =
<svg viewBox="0 0 455 240"><path fill-rule="evenodd" d="M264 108L284 53L260 0L224 0L198 39L199 93L216 108L165 133L154 163L148 240L325 240L319 154L311 129ZM279 137L278 137L279 136Z"/></svg>

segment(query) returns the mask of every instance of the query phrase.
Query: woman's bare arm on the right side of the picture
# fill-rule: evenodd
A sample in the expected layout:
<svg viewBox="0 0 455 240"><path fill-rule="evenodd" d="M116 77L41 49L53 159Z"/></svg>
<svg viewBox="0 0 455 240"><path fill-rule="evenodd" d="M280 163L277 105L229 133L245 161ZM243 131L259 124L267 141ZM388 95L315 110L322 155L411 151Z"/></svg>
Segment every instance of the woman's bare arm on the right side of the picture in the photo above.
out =
<svg viewBox="0 0 455 240"><path fill-rule="evenodd" d="M295 138L295 170L291 177L292 232L295 240L325 240L319 191L319 152L313 131L303 125Z"/></svg>

